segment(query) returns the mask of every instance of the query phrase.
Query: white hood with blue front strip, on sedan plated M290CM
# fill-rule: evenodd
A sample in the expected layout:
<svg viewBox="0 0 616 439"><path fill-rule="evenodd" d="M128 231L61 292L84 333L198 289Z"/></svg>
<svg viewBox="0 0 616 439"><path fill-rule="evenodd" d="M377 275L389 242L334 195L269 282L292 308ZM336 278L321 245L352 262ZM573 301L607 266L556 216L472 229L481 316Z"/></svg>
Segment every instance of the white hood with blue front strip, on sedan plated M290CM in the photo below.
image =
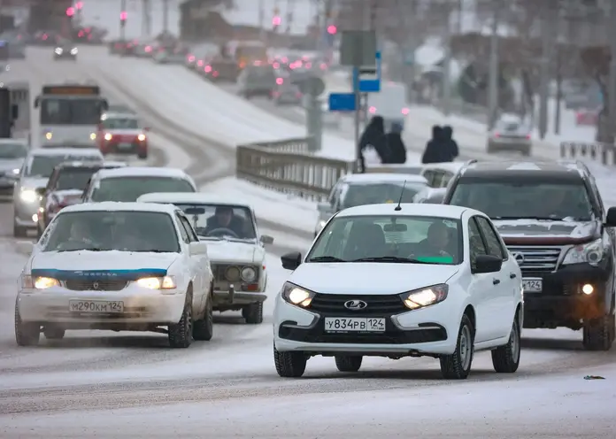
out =
<svg viewBox="0 0 616 439"><path fill-rule="evenodd" d="M42 271L95 271L158 272L167 270L178 258L177 253L146 253L142 251L45 251L36 253L32 270ZM43 275L43 274L39 274ZM164 275L164 274L163 274Z"/></svg>

